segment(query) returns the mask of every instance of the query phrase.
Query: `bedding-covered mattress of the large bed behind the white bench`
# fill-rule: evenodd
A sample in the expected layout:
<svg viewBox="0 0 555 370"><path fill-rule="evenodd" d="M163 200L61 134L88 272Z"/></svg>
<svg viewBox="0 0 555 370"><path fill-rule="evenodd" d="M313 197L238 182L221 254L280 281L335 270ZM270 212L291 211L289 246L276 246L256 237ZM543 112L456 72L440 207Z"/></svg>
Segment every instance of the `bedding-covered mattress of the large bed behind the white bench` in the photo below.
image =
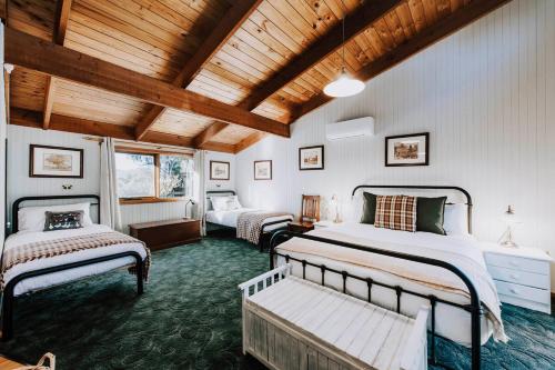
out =
<svg viewBox="0 0 555 370"><path fill-rule="evenodd" d="M428 232L404 232L387 229L374 228L372 224L362 223L344 223L329 229L316 229L309 232L309 234L317 236L326 239L341 240L367 247L380 249L387 249L401 251L410 254L421 254L430 258L447 260L447 262L457 266L463 271L464 268L460 261L468 261L474 267L473 277L480 276L480 282L473 281L474 286L478 289L481 299L487 299L493 307L493 311L500 311L500 301L495 291L495 286L487 273L485 261L482 252L477 247L475 239L471 236L437 236ZM304 247L301 246L304 243ZM307 261L316 264L325 264L329 268L339 271L349 271L350 273L363 278L372 278L375 281L387 283L390 286L402 286L405 289L423 293L434 294L442 299L454 301L458 303L468 303L470 300L461 294L445 291L435 288L436 281L441 280L443 276L451 274L447 270L440 270L436 267L420 264L421 271L416 270L415 262L393 259L390 257L379 257L377 254L369 253L365 251L355 251L352 249L326 244L315 241L306 241L303 239L294 238L276 248L276 251L282 254L290 254L296 259L306 259ZM354 254L359 253L359 254ZM362 253L362 254L361 254ZM349 254L349 258L346 257ZM345 258L343 258L345 256ZM385 261L390 263L391 269L380 264L380 258L389 259ZM370 264L362 261L369 259ZM359 262L360 261L360 262ZM380 263L379 263L380 262ZM284 264L283 257L278 258L278 264ZM410 266L412 263L413 266ZM372 267L369 267L372 266ZM436 270L433 270L436 269ZM392 271L406 271L406 274L394 273ZM422 277L430 273L431 277L436 273L436 281L430 278L431 281L418 279L410 279L407 277L416 276ZM466 271L465 271L466 273ZM302 277L302 266L293 262L293 274ZM306 269L306 278L309 280L320 282L321 271L319 268L309 267ZM470 277L471 278L471 277ZM458 278L453 274L453 279ZM471 279L473 280L473 279ZM343 284L342 277L332 272L325 273L326 286L341 289ZM438 284L436 284L438 287ZM485 286L485 287L484 287ZM464 287L464 286L463 286ZM464 288L465 289L465 288ZM361 299L367 299L367 288L364 282L351 279L347 281L347 292ZM396 309L396 296L393 290L374 286L372 289L372 301L390 309ZM407 316L415 316L422 304L430 304L430 301L411 294L402 296L401 311ZM496 314L500 317L501 314ZM481 324L481 339L486 342L494 331L495 321L488 320L483 317ZM497 329L500 329L497 327ZM436 332L440 336L454 340L464 346L471 343L471 316L468 312L456 307L438 303L436 306ZM497 330L497 338L504 340L503 326Z"/></svg>

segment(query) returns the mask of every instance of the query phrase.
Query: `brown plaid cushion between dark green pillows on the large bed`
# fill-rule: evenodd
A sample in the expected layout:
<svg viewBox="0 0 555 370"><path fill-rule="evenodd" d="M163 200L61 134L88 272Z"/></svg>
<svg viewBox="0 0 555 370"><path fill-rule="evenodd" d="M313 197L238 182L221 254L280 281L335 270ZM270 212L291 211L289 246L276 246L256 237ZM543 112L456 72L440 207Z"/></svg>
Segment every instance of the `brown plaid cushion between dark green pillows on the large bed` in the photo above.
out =
<svg viewBox="0 0 555 370"><path fill-rule="evenodd" d="M416 231L416 197L377 196L376 228Z"/></svg>

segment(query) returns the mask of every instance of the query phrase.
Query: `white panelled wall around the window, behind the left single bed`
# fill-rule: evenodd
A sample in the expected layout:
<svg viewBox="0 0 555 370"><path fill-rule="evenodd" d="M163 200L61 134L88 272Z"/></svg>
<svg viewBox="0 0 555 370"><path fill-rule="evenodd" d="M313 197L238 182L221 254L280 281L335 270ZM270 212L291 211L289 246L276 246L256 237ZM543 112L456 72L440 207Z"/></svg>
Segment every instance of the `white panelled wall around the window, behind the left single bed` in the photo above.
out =
<svg viewBox="0 0 555 370"><path fill-rule="evenodd" d="M52 194L98 194L100 189L100 146L95 141L83 139L83 134L39 130L20 126L8 126L8 204L26 196ZM54 147L79 148L84 150L83 179L49 179L29 177L29 146L31 143ZM234 188L234 157L224 153L206 153L210 159L231 162L230 181L209 181L206 188ZM71 190L62 189L62 184L71 184ZM189 210L191 214L191 209ZM122 223L168 220L185 216L184 202L162 202L130 204L121 207Z"/></svg>

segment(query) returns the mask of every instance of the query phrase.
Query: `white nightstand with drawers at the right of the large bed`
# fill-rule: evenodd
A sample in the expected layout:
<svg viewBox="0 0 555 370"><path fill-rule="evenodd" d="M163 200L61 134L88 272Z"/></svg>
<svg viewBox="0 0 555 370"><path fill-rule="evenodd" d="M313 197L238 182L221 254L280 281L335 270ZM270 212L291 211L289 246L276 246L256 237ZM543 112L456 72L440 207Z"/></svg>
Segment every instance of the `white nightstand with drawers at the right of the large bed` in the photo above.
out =
<svg viewBox="0 0 555 370"><path fill-rule="evenodd" d="M549 264L537 248L506 248L480 243L502 302L551 313Z"/></svg>

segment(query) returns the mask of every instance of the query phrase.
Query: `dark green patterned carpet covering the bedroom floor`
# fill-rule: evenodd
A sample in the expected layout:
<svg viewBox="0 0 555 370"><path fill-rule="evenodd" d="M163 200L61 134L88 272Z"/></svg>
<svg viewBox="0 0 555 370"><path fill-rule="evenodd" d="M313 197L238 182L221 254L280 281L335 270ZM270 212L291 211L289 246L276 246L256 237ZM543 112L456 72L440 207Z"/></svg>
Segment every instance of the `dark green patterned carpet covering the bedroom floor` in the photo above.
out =
<svg viewBox="0 0 555 370"><path fill-rule="evenodd" d="M47 351L69 369L262 369L241 353L236 286L268 269L268 254L208 238L153 253L151 281L135 296L115 271L21 298L16 338L0 353L33 362ZM555 317L504 307L509 344L483 348L483 369L555 369ZM468 351L440 340L438 359L468 369Z"/></svg>

